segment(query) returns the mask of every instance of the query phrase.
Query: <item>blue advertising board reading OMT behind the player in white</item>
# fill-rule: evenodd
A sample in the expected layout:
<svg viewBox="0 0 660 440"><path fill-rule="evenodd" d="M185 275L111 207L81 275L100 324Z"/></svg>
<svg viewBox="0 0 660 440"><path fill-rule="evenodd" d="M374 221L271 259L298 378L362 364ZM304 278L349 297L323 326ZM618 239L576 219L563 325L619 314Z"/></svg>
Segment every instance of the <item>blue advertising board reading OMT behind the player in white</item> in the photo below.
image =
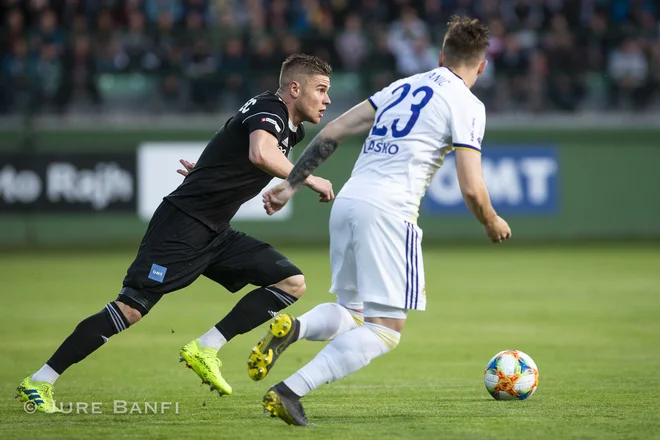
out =
<svg viewBox="0 0 660 440"><path fill-rule="evenodd" d="M502 213L553 213L558 210L559 159L554 147L487 146L482 167L493 207ZM431 214L469 215L453 156L433 177L422 202Z"/></svg>

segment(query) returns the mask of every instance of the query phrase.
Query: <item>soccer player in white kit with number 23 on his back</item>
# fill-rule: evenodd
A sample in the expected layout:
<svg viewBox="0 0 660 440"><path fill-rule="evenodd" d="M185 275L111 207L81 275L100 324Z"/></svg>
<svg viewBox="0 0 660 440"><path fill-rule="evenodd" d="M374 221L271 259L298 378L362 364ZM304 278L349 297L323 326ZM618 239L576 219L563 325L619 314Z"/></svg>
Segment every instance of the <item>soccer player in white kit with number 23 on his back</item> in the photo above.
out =
<svg viewBox="0 0 660 440"><path fill-rule="evenodd" d="M493 209L481 169L484 105L470 88L483 72L488 30L452 17L440 67L404 78L327 124L293 170L264 195L269 214L281 209L346 137L368 133L351 178L330 215L331 292L300 318L278 315L253 349L248 372L260 380L292 342L330 340L295 374L273 386L264 408L291 425L308 424L300 398L345 377L399 343L409 310L424 310L419 204L447 154L465 203L494 243L511 236Z"/></svg>

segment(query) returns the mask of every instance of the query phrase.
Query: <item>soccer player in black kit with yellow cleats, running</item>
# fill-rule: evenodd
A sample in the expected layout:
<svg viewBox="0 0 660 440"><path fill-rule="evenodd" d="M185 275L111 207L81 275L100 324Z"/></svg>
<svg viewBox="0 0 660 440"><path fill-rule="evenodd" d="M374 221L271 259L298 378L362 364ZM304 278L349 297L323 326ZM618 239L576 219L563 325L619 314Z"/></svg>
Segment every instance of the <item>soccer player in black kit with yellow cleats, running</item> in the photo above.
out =
<svg viewBox="0 0 660 440"><path fill-rule="evenodd" d="M250 99L208 143L194 165L182 161L183 183L154 213L127 270L119 296L74 329L46 364L17 388L21 401L37 410L59 412L53 399L55 380L108 338L138 322L163 295L180 290L203 275L230 292L252 284L256 289L206 334L186 344L185 361L220 395L231 386L220 373L220 347L293 304L305 291L305 279L284 255L229 225L240 206L258 195L273 177L286 178L287 159L305 130L318 124L330 98L332 69L324 61L297 54L282 64L276 93ZM307 186L321 202L334 198L332 184L310 176Z"/></svg>

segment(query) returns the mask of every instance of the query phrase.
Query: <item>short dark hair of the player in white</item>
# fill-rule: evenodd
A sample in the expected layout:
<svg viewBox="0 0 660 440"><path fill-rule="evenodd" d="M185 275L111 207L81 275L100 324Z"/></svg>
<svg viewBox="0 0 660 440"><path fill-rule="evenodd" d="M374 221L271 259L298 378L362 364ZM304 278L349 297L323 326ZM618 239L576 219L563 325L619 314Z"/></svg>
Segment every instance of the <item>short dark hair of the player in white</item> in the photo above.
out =
<svg viewBox="0 0 660 440"><path fill-rule="evenodd" d="M472 66L483 60L488 49L488 28L476 18L452 16L442 43L445 65Z"/></svg>

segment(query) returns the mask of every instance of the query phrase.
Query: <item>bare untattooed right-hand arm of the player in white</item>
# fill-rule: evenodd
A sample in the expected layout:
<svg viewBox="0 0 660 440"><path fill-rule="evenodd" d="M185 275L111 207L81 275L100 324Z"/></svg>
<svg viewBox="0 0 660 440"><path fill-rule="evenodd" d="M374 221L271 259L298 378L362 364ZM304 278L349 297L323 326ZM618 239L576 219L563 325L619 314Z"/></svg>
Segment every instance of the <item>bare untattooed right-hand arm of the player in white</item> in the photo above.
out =
<svg viewBox="0 0 660 440"><path fill-rule="evenodd" d="M511 237L509 225L500 218L490 202L490 195L481 168L481 154L472 150L456 150L456 170L465 204L484 225L493 243Z"/></svg>

